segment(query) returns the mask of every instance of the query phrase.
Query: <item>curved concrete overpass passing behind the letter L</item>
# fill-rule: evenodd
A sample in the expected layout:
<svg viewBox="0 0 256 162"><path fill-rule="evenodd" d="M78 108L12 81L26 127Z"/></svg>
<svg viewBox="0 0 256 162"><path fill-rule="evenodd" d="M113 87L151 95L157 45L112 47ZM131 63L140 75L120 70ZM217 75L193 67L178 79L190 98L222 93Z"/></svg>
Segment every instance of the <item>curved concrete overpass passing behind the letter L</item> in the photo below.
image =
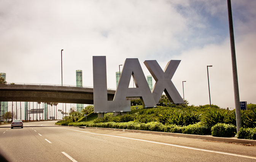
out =
<svg viewBox="0 0 256 162"><path fill-rule="evenodd" d="M115 90L108 90L108 100ZM56 85L0 84L0 101L93 104L93 88Z"/></svg>

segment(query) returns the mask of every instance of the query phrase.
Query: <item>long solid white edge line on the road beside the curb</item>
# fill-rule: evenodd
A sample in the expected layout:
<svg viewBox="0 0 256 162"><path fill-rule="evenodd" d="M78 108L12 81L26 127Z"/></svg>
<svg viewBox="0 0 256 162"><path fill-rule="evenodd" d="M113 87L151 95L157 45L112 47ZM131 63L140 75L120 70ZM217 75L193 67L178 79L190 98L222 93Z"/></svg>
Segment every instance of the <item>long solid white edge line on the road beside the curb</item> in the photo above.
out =
<svg viewBox="0 0 256 162"><path fill-rule="evenodd" d="M59 128L59 127L56 127L56 128ZM67 129L67 128L59 128L59 129ZM84 132L84 131L78 131L78 130L74 130L74 129L67 129L67 130L72 130L72 131L77 131L77 132ZM141 139L137 139L137 138L121 137L121 136L116 136L116 135L107 135L107 134L99 134L99 133L92 133L92 132L84 132L84 133L96 134L96 135L105 135L105 136L117 137L117 138L125 138L125 139L130 139L130 140L156 143L156 144L160 144L160 145L168 145L168 146L174 146L174 147L179 147L179 148L193 149L193 150L197 150L197 151L205 151L205 152L210 152L210 153L225 154L225 155L231 155L231 156L238 156L238 157L246 157L246 158L250 158L250 159L256 159L256 157L253 157L253 156L245 156L245 155L239 155L239 154L224 153L224 152L219 152L219 151L211 151L211 150L207 150L207 149L192 148L192 147L187 147L187 146L173 145L173 144L169 144L169 143L154 142L154 141L149 141L149 140L141 140Z"/></svg>

